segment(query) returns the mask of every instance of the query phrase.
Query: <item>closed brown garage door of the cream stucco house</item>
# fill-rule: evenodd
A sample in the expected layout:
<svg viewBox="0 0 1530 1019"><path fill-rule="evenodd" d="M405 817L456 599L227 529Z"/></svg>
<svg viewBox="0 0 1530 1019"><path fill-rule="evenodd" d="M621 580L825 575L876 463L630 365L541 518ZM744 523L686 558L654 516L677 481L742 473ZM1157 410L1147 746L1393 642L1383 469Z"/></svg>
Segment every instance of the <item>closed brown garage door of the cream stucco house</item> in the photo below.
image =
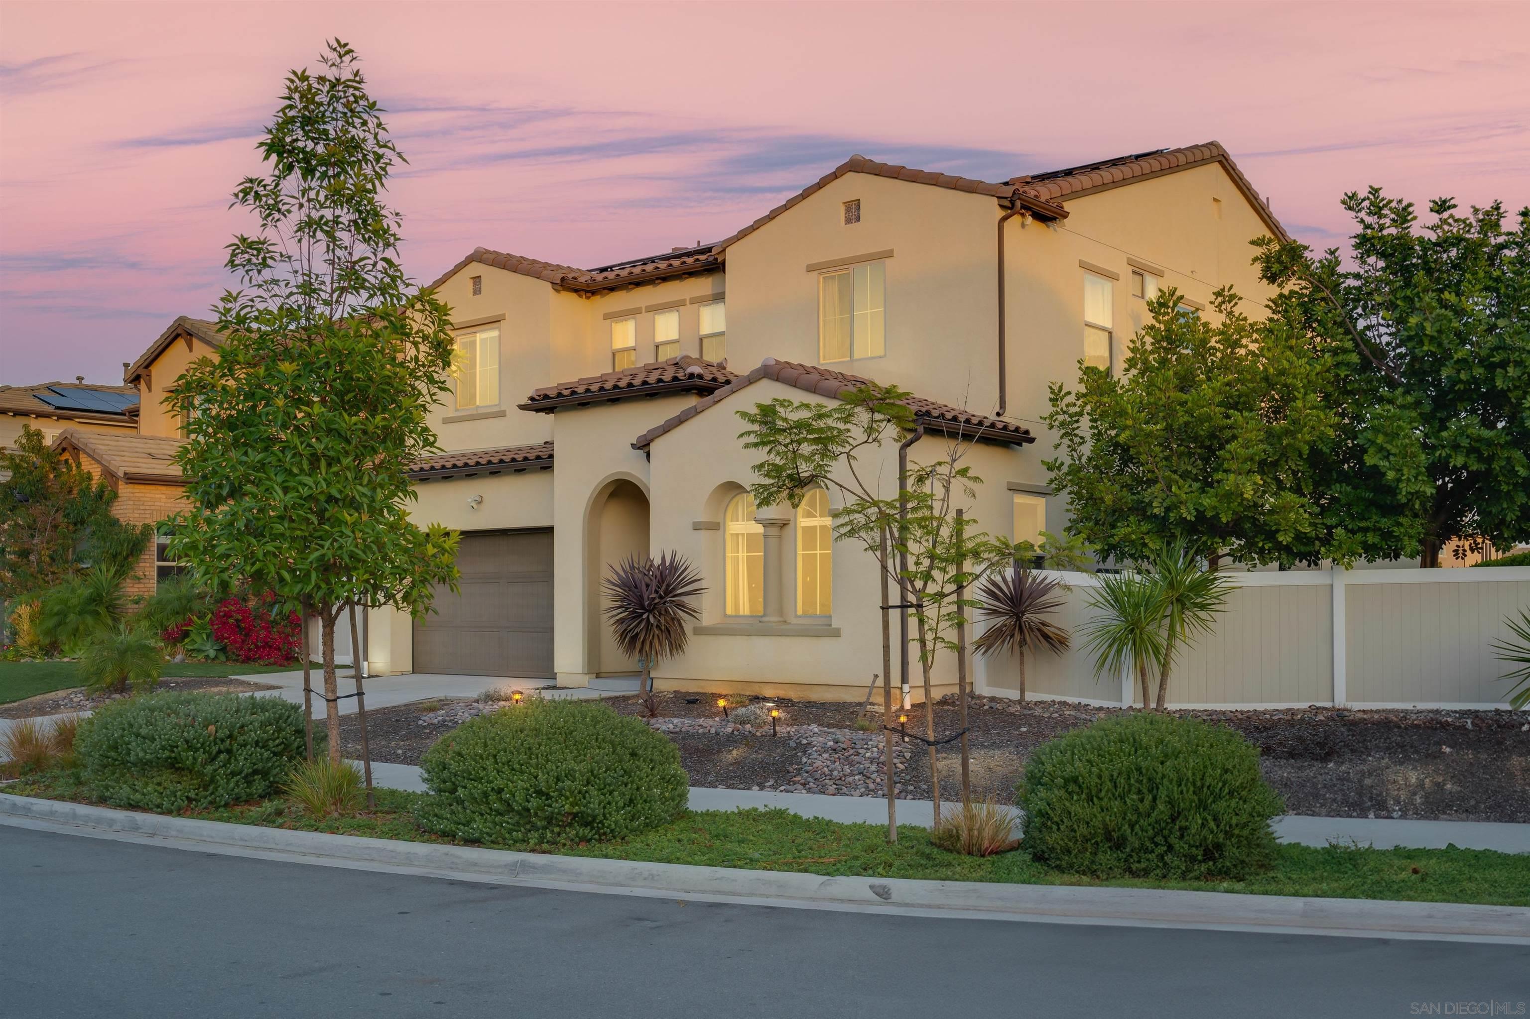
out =
<svg viewBox="0 0 1530 1019"><path fill-rule="evenodd" d="M552 531L464 534L461 592L415 623L415 672L552 678Z"/></svg>

